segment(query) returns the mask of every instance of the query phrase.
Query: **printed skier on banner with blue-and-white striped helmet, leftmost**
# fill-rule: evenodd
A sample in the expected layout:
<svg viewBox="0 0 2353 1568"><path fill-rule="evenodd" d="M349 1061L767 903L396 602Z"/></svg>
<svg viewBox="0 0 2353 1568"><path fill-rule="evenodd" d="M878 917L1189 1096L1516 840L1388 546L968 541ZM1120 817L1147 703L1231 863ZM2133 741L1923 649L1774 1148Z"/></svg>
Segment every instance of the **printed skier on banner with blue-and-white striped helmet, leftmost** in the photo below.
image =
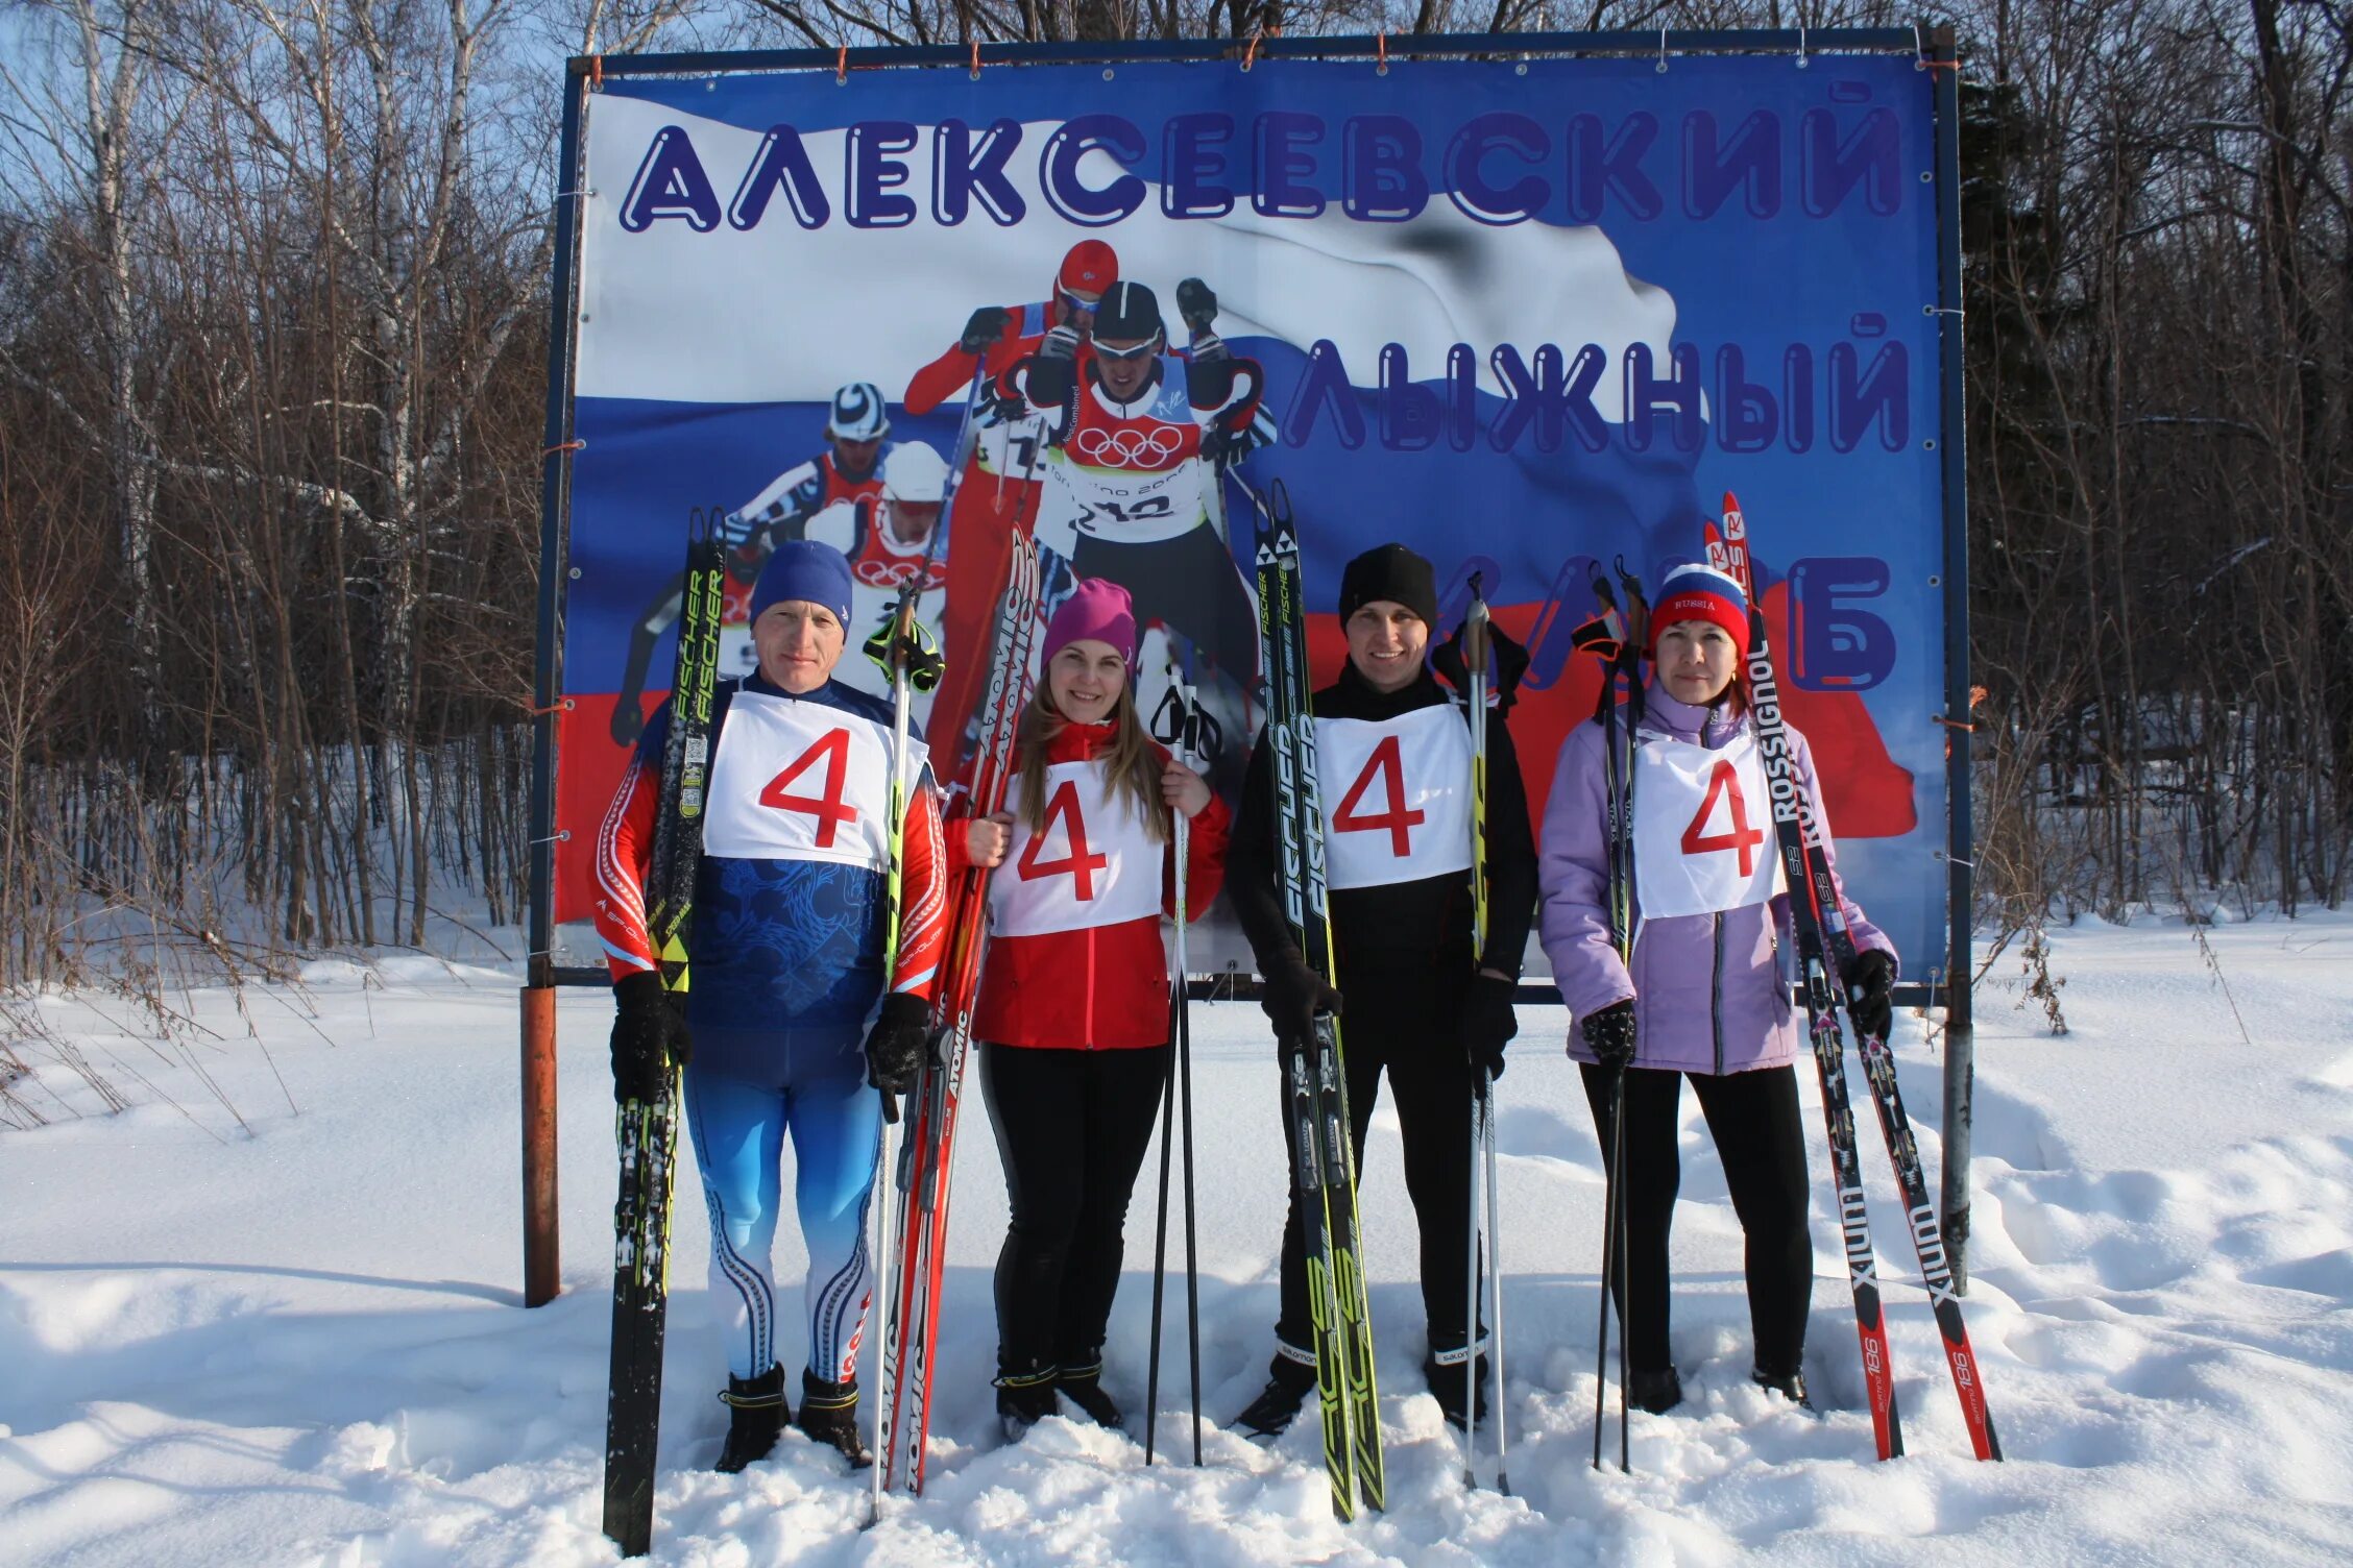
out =
<svg viewBox="0 0 2353 1568"><path fill-rule="evenodd" d="M826 414L826 451L776 475L758 496L727 512L727 618L720 623L720 675L751 675L758 656L751 644L751 616L741 611L769 550L800 538L805 524L828 505L840 505L882 489L882 437L889 435L889 409L871 381L852 381L833 393ZM631 625L628 654L621 668L621 698L612 710L612 738L628 745L645 726L645 672L654 644L678 623L685 576L664 583L645 616Z"/></svg>

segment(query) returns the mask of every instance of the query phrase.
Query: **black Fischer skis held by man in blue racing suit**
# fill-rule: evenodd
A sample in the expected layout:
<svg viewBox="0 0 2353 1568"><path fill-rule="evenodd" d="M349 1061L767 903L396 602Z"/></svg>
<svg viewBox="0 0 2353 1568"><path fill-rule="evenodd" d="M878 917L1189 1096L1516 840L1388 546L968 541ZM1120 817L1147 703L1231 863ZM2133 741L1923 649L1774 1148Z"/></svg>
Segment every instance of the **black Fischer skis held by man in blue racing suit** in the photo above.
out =
<svg viewBox="0 0 2353 1568"><path fill-rule="evenodd" d="M645 877L645 929L671 1006L687 994L687 922L704 856L704 785L711 778L711 693L720 670L720 595L727 543L718 512L696 510L687 536L685 602L671 733L661 750L654 858ZM671 1180L678 1173L678 1070L659 1103L624 1100L616 1114L621 1187L612 1206L612 1382L605 1399L605 1535L621 1556L654 1540L654 1450L661 1432L661 1331L671 1293Z"/></svg>

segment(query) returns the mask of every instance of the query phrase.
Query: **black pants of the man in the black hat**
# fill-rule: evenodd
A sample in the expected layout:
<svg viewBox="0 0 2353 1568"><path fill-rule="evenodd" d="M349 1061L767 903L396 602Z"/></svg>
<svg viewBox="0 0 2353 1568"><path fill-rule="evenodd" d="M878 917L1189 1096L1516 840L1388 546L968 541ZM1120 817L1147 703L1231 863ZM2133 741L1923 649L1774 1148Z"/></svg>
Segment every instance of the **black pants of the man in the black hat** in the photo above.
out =
<svg viewBox="0 0 2353 1568"><path fill-rule="evenodd" d="M1445 964L1447 980L1426 966L1381 976L1367 964L1341 971L1341 1051L1348 1063L1348 1138L1358 1185L1365 1173L1365 1126L1381 1093L1381 1072L1398 1095L1398 1135L1405 1143L1405 1194L1421 1229L1421 1312L1431 1349L1459 1349L1471 1246L1471 1058L1461 1044L1461 999L1471 964ZM1289 1046L1285 1044L1285 1051ZM1282 1091L1282 1150L1299 1171L1299 1128L1292 1124L1289 1081ZM1306 1237L1299 1229L1299 1187L1282 1225L1285 1345L1311 1349Z"/></svg>

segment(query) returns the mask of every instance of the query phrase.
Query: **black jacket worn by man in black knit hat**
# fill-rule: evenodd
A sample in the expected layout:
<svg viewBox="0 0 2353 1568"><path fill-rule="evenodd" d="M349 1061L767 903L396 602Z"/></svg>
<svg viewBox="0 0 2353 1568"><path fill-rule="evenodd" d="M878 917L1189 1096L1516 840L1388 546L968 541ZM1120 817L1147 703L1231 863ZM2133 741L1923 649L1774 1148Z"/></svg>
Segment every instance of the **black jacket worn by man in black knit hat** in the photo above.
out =
<svg viewBox="0 0 2353 1568"><path fill-rule="evenodd" d="M1424 670L1402 691L1377 691L1355 665L1313 698L1320 719L1393 719L1417 708L1452 703ZM1466 719L1468 722L1468 719ZM1332 780L1318 780L1325 790ZM1299 964L1282 893L1275 886L1275 778L1266 731L1249 752L1242 804L1226 851L1226 893L1259 959L1259 973ZM1341 973L1365 964L1381 971L1459 973L1471 964L1471 872L1419 882L1332 891L1332 950ZM1487 952L1478 966L1520 973L1527 931L1537 914L1537 839L1527 820L1527 785L1504 715L1487 712ZM1339 980L1346 990L1346 980Z"/></svg>

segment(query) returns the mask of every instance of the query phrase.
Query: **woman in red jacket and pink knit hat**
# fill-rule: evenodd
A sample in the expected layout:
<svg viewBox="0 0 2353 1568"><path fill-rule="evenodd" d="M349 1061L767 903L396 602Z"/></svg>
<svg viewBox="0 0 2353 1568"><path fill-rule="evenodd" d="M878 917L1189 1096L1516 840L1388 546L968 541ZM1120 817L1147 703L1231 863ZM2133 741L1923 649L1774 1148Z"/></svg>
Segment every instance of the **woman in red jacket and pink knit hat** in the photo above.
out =
<svg viewBox="0 0 2353 1568"><path fill-rule="evenodd" d="M1172 813L1191 818L1186 900L1217 898L1226 806L1144 733L1127 590L1087 578L1045 632L1007 811L958 849L988 882L988 964L972 1023L1012 1227L998 1253L998 1418L1122 1425L1104 1394L1120 1227L1167 1084Z"/></svg>

